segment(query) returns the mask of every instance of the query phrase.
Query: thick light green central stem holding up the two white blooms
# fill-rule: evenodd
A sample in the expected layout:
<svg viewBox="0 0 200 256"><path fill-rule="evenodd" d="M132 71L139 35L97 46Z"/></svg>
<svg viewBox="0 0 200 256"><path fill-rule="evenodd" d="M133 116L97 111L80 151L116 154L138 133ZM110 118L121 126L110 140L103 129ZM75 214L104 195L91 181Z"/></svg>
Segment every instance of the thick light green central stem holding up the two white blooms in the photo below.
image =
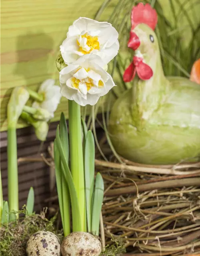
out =
<svg viewBox="0 0 200 256"><path fill-rule="evenodd" d="M85 184L84 184L84 161L82 148L82 126L80 105L68 101L69 111L69 138L70 138L70 170L76 188L78 205L80 209L81 227L86 231L85 210ZM72 216L73 218L73 216Z"/></svg>

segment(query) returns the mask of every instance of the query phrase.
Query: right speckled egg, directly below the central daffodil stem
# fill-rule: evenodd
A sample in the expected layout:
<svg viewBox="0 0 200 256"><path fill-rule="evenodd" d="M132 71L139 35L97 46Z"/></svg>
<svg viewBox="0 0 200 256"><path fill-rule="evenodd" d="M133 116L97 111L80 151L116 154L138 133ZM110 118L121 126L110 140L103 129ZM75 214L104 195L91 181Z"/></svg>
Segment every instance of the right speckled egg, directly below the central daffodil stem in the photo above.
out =
<svg viewBox="0 0 200 256"><path fill-rule="evenodd" d="M101 250L100 241L86 232L73 232L61 244L62 256L99 256Z"/></svg>

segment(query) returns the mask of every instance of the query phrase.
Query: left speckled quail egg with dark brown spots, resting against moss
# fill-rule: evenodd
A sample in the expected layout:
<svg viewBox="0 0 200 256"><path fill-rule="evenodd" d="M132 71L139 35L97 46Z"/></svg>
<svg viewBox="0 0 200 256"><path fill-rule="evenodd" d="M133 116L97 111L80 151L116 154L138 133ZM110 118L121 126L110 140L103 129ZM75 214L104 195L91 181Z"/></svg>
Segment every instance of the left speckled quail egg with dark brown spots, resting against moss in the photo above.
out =
<svg viewBox="0 0 200 256"><path fill-rule="evenodd" d="M60 256L60 240L52 232L38 231L26 244L27 256Z"/></svg>

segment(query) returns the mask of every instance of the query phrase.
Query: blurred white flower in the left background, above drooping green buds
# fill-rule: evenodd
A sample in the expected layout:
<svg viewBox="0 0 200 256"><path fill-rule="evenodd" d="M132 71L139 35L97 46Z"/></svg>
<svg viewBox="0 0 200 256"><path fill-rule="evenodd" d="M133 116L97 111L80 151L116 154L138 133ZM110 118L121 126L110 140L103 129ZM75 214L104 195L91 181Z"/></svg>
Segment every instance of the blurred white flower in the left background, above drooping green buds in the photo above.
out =
<svg viewBox="0 0 200 256"><path fill-rule="evenodd" d="M50 119L54 117L54 112L62 97L60 94L60 86L54 84L55 80L53 79L45 80L38 90L39 94L43 94L44 100L42 102L34 101L32 104L33 108L43 108L47 110L50 113Z"/></svg>

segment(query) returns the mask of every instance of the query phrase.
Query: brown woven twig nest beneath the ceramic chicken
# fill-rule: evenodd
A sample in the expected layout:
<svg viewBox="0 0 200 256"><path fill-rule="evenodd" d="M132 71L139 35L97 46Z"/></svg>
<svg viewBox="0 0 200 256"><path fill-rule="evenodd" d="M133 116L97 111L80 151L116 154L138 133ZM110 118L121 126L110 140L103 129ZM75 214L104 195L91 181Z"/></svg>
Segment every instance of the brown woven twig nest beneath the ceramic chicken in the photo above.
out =
<svg viewBox="0 0 200 256"><path fill-rule="evenodd" d="M200 162L150 166L121 158L122 164L104 142L109 161L99 153L95 160L105 183L102 244L120 240L132 256L200 255ZM51 158L19 162L44 160L52 166L51 148ZM57 196L47 201L59 209Z"/></svg>

